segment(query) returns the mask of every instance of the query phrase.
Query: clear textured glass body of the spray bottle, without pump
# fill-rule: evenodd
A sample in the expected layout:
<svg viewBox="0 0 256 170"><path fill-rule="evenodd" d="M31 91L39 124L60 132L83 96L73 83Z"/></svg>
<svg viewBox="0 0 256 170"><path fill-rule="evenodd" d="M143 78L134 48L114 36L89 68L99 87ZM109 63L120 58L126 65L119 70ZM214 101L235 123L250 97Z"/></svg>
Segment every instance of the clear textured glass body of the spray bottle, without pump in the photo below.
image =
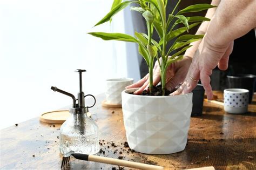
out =
<svg viewBox="0 0 256 170"><path fill-rule="evenodd" d="M98 126L85 113L72 114L60 127L59 151L63 155L95 154L99 151Z"/></svg>

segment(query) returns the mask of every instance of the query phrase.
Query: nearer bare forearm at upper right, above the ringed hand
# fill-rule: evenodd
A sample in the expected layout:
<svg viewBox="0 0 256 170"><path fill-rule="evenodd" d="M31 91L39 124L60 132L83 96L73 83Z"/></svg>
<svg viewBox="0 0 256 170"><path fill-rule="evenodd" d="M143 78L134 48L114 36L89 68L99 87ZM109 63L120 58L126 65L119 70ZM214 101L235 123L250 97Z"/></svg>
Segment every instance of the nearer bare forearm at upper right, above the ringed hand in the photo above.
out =
<svg viewBox="0 0 256 170"><path fill-rule="evenodd" d="M232 40L255 28L255 9L253 0L221 1L208 26L205 41L213 48L225 48Z"/></svg>

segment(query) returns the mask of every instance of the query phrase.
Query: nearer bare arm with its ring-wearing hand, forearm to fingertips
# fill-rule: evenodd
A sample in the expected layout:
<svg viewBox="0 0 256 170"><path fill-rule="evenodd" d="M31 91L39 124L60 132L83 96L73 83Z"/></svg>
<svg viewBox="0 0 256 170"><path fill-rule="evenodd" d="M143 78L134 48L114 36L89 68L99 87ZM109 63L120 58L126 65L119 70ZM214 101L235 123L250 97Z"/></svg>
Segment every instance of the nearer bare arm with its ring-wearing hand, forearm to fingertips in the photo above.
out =
<svg viewBox="0 0 256 170"><path fill-rule="evenodd" d="M210 76L218 65L220 70L226 70L228 57L232 52L233 40L245 35L256 26L256 1L220 2L213 16L205 37L202 39L193 57L184 83L173 94L188 93L196 87L193 79L201 79L208 99L212 99ZM191 78L190 78L191 77Z"/></svg>

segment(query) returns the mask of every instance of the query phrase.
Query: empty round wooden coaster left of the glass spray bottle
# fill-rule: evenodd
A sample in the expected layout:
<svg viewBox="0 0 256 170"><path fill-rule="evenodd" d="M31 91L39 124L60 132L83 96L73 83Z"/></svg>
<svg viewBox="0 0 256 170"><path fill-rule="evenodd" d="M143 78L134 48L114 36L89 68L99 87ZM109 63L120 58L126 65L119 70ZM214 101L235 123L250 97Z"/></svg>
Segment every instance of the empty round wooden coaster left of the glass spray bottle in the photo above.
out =
<svg viewBox="0 0 256 170"><path fill-rule="evenodd" d="M63 124L70 115L67 110L46 112L41 115L40 121L48 124Z"/></svg>

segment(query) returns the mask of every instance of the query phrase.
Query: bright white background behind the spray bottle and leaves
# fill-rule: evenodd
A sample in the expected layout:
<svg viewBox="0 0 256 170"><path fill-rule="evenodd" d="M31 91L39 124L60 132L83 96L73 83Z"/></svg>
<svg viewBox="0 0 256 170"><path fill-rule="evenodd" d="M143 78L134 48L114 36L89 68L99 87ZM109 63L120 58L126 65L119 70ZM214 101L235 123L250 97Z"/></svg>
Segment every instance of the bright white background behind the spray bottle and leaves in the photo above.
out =
<svg viewBox="0 0 256 170"><path fill-rule="evenodd" d="M107 78L140 78L138 63L130 66L132 74L127 71L125 43L86 34L124 32L122 13L112 26L92 28L111 4L105 0L0 0L0 129L72 104L70 97L50 87L76 95L76 69L87 70L83 74L86 94L104 92Z"/></svg>

